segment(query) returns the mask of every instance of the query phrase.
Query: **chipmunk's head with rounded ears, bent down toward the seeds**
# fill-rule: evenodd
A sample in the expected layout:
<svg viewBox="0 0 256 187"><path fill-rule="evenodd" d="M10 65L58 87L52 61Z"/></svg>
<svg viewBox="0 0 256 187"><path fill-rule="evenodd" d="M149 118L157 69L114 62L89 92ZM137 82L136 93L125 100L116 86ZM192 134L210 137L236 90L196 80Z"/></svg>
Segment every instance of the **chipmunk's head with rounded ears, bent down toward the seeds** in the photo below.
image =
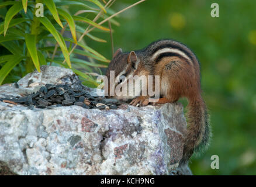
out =
<svg viewBox="0 0 256 187"><path fill-rule="evenodd" d="M129 94L127 94L127 96L117 96L115 93L115 88L117 85L124 84L129 75L134 75L138 64L139 58L134 51L131 51L130 53L123 53L122 49L118 49L116 51L116 53L113 55L112 61L109 64L108 70L106 71L106 77L108 78L108 89L105 89L106 97L113 97L123 100L134 98L134 96L129 96ZM114 93L110 91L111 89ZM126 89L126 91L128 92L128 89Z"/></svg>

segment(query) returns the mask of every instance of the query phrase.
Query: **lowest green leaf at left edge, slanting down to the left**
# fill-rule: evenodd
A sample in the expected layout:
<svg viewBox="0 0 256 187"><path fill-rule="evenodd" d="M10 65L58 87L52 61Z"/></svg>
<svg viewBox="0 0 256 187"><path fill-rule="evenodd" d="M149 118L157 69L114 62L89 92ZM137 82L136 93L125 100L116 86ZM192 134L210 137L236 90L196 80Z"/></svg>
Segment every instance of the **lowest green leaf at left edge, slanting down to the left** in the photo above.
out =
<svg viewBox="0 0 256 187"><path fill-rule="evenodd" d="M9 74L9 72L17 65L20 63L20 61L22 61L22 59L25 58L23 56L19 56L19 55L13 55L11 58L9 58L9 60L7 61L7 63L5 63L5 65L1 68L0 70L0 85L2 84L2 82L4 81L5 77Z"/></svg>

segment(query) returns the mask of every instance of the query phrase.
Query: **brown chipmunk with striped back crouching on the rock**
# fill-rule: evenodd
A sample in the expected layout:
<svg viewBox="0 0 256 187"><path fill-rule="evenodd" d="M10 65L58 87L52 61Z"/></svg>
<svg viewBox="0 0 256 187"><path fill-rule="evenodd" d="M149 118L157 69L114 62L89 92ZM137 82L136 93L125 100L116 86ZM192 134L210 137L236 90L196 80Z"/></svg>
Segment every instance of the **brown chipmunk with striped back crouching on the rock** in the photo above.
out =
<svg viewBox="0 0 256 187"><path fill-rule="evenodd" d="M206 148L210 138L210 124L205 102L200 88L200 64L195 54L184 44L174 40L158 40L143 50L123 53L118 49L106 71L109 79L110 71L115 71L115 84L123 84L121 76L129 79L129 75L159 75L160 96L153 104L172 103L179 98L188 99L189 126L184 138L184 151L180 164L188 162L193 151ZM108 83L108 85L110 85ZM136 85L135 85L136 86ZM154 85L153 85L154 86ZM110 86L106 93L110 92ZM127 87L127 92L129 92ZM130 105L146 106L150 96L110 96L117 99L133 99Z"/></svg>

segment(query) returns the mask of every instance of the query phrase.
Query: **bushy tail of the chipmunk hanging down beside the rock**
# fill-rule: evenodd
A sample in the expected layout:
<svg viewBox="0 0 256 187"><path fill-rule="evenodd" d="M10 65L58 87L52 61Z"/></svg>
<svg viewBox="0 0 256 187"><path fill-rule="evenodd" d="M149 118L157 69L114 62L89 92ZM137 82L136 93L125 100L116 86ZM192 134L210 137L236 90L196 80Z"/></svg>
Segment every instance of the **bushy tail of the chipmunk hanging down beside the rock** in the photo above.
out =
<svg viewBox="0 0 256 187"><path fill-rule="evenodd" d="M209 116L202 97L189 99L188 129L184 139L183 157L180 164L188 162L193 151L206 150L211 137Z"/></svg>

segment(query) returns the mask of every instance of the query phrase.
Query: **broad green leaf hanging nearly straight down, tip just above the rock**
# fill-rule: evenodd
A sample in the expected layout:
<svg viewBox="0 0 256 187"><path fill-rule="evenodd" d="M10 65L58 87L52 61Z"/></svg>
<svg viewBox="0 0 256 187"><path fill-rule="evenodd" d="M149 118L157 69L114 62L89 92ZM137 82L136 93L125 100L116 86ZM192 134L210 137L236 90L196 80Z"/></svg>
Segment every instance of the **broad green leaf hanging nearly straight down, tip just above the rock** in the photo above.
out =
<svg viewBox="0 0 256 187"><path fill-rule="evenodd" d="M33 34L26 34L25 41L27 50L29 51L30 57L32 58L34 67L36 67L36 70L40 72L40 64L36 49L36 36Z"/></svg>

